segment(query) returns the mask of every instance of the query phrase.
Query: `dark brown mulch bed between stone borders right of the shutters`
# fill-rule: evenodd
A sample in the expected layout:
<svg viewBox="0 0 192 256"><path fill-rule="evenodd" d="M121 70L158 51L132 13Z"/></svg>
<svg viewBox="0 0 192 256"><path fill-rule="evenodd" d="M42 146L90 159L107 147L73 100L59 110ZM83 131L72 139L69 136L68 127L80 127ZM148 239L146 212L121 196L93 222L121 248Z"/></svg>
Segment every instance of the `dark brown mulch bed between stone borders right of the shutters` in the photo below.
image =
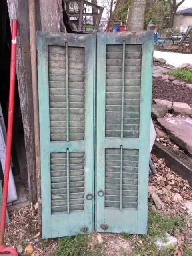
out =
<svg viewBox="0 0 192 256"><path fill-rule="evenodd" d="M184 102L192 104L192 90L186 85L175 85L169 81L163 81L161 78L153 78L152 100L161 99L172 102Z"/></svg>

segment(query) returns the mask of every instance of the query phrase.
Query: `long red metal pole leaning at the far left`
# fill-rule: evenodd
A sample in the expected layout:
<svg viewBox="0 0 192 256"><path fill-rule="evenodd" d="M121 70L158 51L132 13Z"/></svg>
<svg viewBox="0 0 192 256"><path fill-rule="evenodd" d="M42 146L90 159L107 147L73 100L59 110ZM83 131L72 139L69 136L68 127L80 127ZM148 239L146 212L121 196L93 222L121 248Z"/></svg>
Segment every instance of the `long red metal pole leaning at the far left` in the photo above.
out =
<svg viewBox="0 0 192 256"><path fill-rule="evenodd" d="M8 194L8 183L9 183L12 130L13 130L16 49L17 49L17 20L13 20L13 22L12 22L12 40L11 40L11 64L10 64L8 127L7 127L5 172L4 172L3 198L2 198L1 224L0 224L0 252L10 252L10 255L15 255L15 256L18 255L16 250L14 250L13 248L6 248L4 246L4 235L5 235L7 194ZM2 255L7 256L9 254L0 254L0 255L1 256Z"/></svg>

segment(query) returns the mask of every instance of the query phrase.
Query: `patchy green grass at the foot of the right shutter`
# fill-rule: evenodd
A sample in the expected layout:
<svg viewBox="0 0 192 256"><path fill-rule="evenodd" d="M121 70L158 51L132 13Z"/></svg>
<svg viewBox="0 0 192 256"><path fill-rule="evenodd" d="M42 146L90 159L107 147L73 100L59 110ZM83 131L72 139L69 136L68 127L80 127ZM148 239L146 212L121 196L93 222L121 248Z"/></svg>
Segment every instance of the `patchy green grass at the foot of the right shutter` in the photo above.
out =
<svg viewBox="0 0 192 256"><path fill-rule="evenodd" d="M126 256L172 256L174 254L175 248L171 246L166 252L159 252L156 247L155 242L157 238L160 237L164 242L166 242L166 233L175 236L178 234L178 230L186 228L187 222L190 217L186 216L168 216L166 214L158 214L158 212L149 208L148 212L148 234L140 235L136 240L133 235L122 233L122 237L132 241L133 250ZM139 246L138 246L139 245ZM184 255L192 255L192 246L190 242L185 241L184 243Z"/></svg>

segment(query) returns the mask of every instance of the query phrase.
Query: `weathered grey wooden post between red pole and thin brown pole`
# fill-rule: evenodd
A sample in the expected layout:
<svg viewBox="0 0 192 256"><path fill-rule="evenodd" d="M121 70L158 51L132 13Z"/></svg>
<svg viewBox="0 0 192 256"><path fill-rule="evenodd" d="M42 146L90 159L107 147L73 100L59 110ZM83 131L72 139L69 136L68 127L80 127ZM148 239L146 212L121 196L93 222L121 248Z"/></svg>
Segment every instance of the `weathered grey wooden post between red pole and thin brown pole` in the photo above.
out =
<svg viewBox="0 0 192 256"><path fill-rule="evenodd" d="M23 120L30 200L37 202L28 1L7 0L10 24L18 20L16 72Z"/></svg>

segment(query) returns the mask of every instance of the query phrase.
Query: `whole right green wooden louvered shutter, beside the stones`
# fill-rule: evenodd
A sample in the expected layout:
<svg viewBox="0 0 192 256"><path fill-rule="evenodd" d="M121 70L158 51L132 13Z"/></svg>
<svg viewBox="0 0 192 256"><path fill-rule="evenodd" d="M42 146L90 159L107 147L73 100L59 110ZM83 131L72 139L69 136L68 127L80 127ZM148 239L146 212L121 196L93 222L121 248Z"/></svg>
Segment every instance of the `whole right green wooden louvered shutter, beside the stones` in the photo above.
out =
<svg viewBox="0 0 192 256"><path fill-rule="evenodd" d="M96 230L147 232L153 33L98 34Z"/></svg>

